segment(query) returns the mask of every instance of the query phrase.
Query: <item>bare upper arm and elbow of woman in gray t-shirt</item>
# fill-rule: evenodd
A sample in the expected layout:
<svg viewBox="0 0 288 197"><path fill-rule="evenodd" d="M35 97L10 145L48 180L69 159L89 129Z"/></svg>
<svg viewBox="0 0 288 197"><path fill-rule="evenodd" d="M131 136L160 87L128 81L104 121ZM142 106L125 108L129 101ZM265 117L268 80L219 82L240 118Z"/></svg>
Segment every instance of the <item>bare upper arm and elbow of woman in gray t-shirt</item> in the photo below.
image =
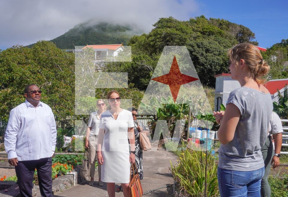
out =
<svg viewBox="0 0 288 197"><path fill-rule="evenodd" d="M233 140L240 115L240 110L236 105L232 103L227 104L225 115L222 120L220 120L221 125L217 133L221 144L225 145Z"/></svg>

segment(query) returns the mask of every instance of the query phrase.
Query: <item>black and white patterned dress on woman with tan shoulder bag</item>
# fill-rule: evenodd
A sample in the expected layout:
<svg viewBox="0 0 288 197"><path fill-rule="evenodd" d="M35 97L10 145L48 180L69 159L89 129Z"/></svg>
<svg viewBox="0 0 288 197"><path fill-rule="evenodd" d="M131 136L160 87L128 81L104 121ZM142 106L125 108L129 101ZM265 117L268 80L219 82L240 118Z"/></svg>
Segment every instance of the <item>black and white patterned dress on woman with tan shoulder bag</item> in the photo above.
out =
<svg viewBox="0 0 288 197"><path fill-rule="evenodd" d="M143 128L143 131L149 131L149 129L147 129L144 124L140 121L139 122L139 126ZM137 120L134 120L134 135L135 135L135 164L138 170L138 174L140 179L143 179L143 149L140 147L140 133L137 129L138 124L137 124ZM137 173L135 171L135 173Z"/></svg>

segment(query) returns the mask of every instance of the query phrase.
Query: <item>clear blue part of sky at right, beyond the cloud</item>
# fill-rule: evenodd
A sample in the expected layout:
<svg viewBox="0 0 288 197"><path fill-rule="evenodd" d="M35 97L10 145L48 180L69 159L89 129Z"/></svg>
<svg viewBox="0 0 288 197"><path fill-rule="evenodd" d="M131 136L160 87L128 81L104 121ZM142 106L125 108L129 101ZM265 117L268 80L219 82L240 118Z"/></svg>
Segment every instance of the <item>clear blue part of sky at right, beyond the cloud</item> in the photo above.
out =
<svg viewBox="0 0 288 197"><path fill-rule="evenodd" d="M248 27L259 47L268 48L288 39L288 1L222 1L219 6L219 1L207 0L199 4L206 18L223 18Z"/></svg>

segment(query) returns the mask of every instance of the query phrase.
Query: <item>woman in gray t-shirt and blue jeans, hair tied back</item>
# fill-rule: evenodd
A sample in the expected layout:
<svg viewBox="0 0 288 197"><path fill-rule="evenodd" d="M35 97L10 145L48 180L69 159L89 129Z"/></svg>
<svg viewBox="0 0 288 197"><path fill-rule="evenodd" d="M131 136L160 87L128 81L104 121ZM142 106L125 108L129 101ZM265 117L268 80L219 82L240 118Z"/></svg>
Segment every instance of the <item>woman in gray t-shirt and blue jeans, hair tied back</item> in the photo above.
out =
<svg viewBox="0 0 288 197"><path fill-rule="evenodd" d="M241 87L233 90L223 112L214 112L220 123L217 170L221 196L260 196L264 175L263 146L272 112L269 91L261 77L269 65L252 44L241 43L228 51L232 79Z"/></svg>

